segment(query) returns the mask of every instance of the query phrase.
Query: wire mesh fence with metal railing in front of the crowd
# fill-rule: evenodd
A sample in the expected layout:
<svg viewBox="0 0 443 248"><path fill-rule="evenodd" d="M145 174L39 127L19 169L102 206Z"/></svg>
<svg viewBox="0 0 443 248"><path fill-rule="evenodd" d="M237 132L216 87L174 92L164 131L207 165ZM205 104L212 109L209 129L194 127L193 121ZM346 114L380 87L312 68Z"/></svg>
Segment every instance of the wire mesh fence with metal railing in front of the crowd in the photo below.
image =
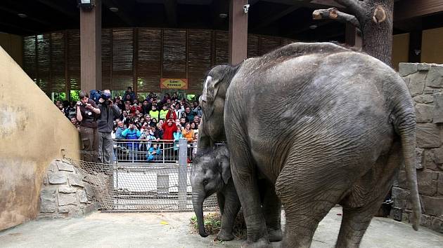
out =
<svg viewBox="0 0 443 248"><path fill-rule="evenodd" d="M64 159L75 165L84 174L84 181L91 184L102 211L193 211L190 176L195 144L188 144L186 139L176 144L122 140L114 144L111 164L83 158L96 156L100 161L101 153L79 151L80 159L74 159L77 156L73 152L64 154ZM205 200L203 209L217 211L215 195Z"/></svg>

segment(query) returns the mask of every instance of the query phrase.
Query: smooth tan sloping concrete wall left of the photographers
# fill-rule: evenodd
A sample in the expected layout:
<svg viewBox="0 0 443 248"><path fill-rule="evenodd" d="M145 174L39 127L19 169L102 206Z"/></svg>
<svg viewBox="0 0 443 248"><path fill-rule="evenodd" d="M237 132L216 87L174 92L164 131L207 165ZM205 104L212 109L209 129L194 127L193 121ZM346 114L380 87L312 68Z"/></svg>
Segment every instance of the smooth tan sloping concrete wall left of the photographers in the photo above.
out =
<svg viewBox="0 0 443 248"><path fill-rule="evenodd" d="M61 149L78 151L68 118L0 48L0 230L39 212L43 174Z"/></svg>

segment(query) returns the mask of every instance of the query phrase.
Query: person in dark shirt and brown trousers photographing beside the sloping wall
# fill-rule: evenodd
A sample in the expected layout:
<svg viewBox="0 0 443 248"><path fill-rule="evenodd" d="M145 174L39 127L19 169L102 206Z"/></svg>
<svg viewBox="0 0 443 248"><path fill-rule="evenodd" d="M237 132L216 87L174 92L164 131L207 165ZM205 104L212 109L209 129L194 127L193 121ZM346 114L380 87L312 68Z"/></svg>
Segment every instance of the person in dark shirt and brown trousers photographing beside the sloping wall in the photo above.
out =
<svg viewBox="0 0 443 248"><path fill-rule="evenodd" d="M84 156L86 162L97 162L98 151L97 115L100 114L96 103L89 99L88 93L82 90L77 102L77 120L80 122L80 137L82 138Z"/></svg>

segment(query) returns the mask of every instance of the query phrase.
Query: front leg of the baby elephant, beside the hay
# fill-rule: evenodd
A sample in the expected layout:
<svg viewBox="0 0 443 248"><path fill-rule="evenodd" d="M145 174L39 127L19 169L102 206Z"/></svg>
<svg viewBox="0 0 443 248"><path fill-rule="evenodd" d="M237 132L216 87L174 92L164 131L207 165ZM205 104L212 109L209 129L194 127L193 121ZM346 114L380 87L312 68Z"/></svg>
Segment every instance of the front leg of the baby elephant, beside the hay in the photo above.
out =
<svg viewBox="0 0 443 248"><path fill-rule="evenodd" d="M232 182L231 182L232 184ZM235 191L235 188L234 188ZM217 240L233 240L233 225L236 221L240 202L237 195L223 195L224 207L221 214L221 228L217 234Z"/></svg>

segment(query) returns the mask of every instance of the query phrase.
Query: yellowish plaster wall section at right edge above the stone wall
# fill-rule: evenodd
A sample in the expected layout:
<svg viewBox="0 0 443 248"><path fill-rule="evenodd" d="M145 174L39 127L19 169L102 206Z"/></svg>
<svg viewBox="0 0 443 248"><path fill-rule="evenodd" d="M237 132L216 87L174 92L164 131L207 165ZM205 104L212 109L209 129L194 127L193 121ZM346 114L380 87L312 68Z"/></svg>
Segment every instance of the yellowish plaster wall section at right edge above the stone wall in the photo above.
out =
<svg viewBox="0 0 443 248"><path fill-rule="evenodd" d="M443 27L423 30L421 62L443 64Z"/></svg>

